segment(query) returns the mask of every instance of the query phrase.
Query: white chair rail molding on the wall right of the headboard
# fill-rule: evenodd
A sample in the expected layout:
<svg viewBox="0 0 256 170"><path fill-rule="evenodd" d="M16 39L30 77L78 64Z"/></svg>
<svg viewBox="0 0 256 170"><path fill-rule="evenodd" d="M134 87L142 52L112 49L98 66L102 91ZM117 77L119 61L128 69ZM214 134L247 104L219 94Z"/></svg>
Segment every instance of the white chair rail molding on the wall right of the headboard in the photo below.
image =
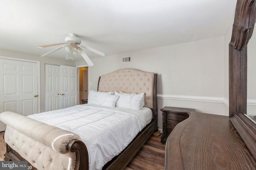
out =
<svg viewBox="0 0 256 170"><path fill-rule="evenodd" d="M167 100L185 100L185 101L195 101L195 102L210 102L210 103L222 103L228 106L224 102L224 98L218 97L206 97L206 96L179 96L179 95L166 95L166 94L157 94L158 99L167 99Z"/></svg>

